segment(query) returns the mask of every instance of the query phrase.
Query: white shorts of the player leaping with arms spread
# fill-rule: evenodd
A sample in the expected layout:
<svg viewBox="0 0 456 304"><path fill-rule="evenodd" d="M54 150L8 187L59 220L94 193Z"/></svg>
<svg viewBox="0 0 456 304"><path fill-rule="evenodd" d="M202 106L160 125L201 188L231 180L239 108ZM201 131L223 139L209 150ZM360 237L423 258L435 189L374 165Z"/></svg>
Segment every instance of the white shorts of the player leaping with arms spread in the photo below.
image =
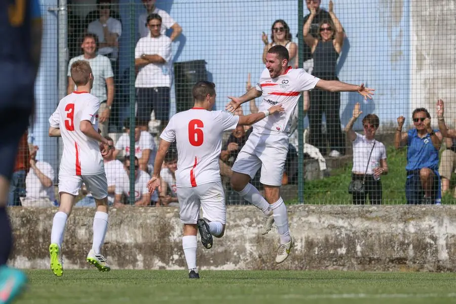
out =
<svg viewBox="0 0 456 304"><path fill-rule="evenodd" d="M255 177L261 167L260 182L268 186L282 184L289 138L286 134L261 135L252 132L236 158L234 172Z"/></svg>

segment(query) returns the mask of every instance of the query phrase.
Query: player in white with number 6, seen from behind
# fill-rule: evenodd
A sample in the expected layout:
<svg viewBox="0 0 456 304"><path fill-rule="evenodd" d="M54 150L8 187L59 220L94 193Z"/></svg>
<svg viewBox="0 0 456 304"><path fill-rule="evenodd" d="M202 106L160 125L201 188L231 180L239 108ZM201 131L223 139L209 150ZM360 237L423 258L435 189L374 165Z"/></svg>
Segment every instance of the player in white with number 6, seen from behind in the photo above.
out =
<svg viewBox="0 0 456 304"><path fill-rule="evenodd" d="M174 115L160 135L154 174L147 187L150 193L157 188L161 192L163 160L171 143L176 141L177 198L180 220L184 224L182 247L188 277L198 279L197 229L203 246L208 249L212 248L212 236L221 238L225 231L225 201L218 164L223 132L254 124L268 116L280 116L284 109L278 104L247 116L233 116L228 112L211 111L215 103L215 84L200 81L192 93L194 107ZM198 218L200 207L205 218Z"/></svg>

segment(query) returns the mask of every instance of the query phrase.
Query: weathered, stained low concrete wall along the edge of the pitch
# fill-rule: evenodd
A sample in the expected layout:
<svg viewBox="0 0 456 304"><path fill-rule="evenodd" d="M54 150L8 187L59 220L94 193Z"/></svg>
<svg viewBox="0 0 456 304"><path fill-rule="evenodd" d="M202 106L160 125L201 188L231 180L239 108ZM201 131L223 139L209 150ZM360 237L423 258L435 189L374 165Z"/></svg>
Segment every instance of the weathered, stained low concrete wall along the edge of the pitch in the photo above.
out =
<svg viewBox="0 0 456 304"><path fill-rule="evenodd" d="M228 207L227 231L206 250L201 269L338 269L456 271L456 206L290 206L296 247L274 262L278 236L259 234L260 212ZM10 209L16 248L12 264L46 269L55 209ZM93 209L75 209L63 245L64 267L86 268ZM184 269L175 208L112 209L103 253L114 269Z"/></svg>

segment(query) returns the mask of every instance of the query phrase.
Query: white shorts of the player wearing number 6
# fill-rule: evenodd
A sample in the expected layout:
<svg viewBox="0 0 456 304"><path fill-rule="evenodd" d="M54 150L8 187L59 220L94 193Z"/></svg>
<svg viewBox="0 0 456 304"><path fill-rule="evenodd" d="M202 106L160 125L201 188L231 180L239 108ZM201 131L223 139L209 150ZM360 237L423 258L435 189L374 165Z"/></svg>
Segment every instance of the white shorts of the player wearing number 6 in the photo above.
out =
<svg viewBox="0 0 456 304"><path fill-rule="evenodd" d="M177 199L180 221L184 224L196 224L200 208L208 220L226 223L225 194L220 181L192 188L177 187Z"/></svg>

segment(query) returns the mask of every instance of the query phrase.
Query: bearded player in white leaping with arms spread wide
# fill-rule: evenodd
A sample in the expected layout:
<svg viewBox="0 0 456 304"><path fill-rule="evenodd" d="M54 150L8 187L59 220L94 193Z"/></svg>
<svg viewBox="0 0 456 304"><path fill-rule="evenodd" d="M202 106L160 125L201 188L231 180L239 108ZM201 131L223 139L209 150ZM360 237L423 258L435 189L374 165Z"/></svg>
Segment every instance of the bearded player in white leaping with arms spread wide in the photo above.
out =
<svg viewBox="0 0 456 304"><path fill-rule="evenodd" d="M325 81L308 74L304 69L288 66L288 51L284 46L274 46L266 55L266 68L261 73L255 88L241 97L229 97L226 109L234 112L241 104L262 97L258 109L261 111L272 104L282 104L282 115L270 116L253 125L246 144L242 147L233 165L231 186L248 202L264 214L262 234L267 234L275 222L280 245L276 262L283 262L290 253L293 239L288 230L287 208L279 195L282 175L288 151L288 132L291 118L301 91L314 88L331 92L358 92L364 99L372 98L372 89L339 81ZM311 105L312 106L312 105ZM260 182L264 185L264 199L258 189L249 183L261 167Z"/></svg>

